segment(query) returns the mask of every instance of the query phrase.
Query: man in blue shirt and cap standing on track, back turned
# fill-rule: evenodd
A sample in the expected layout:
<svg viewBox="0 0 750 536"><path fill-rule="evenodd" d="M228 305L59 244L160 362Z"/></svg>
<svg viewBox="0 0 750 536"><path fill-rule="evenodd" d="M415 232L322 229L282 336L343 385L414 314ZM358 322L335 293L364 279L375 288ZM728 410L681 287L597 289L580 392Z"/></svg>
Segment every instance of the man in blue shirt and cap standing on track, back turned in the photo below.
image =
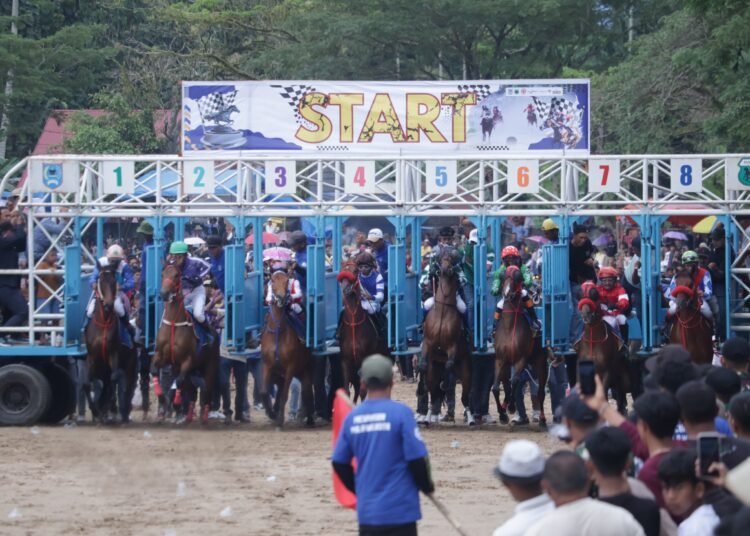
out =
<svg viewBox="0 0 750 536"><path fill-rule="evenodd" d="M367 400L344 420L333 468L357 495L360 536L416 535L419 491L435 491L427 447L411 409L391 400L393 361L372 355L362 363L361 377Z"/></svg>

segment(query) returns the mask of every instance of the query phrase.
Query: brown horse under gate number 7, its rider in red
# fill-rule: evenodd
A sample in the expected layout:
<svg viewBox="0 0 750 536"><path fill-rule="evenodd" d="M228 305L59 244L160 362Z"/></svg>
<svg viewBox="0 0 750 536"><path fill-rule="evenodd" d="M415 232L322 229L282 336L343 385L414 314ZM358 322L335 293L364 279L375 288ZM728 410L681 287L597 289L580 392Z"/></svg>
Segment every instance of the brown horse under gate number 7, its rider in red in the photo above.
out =
<svg viewBox="0 0 750 536"><path fill-rule="evenodd" d="M627 344L618 338L604 321L599 303L599 292L592 282L581 285L582 298L578 310L583 320L583 335L573 344L578 361L593 361L594 369L604 384L604 392L612 389L617 410L625 415L626 395L631 389L630 365L621 346Z"/></svg>

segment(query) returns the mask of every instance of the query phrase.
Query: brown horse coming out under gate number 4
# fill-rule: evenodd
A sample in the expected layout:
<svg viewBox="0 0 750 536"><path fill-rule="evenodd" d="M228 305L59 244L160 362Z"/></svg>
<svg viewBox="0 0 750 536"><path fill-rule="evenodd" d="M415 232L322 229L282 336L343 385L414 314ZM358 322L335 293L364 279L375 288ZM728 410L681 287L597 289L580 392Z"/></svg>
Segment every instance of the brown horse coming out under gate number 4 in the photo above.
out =
<svg viewBox="0 0 750 536"><path fill-rule="evenodd" d="M350 384L354 387L353 402L356 404L360 395L363 400L367 396L367 391L360 393L362 361L376 353L388 355L388 343L380 337L370 315L362 308L362 288L356 274L343 271L338 281L344 298L339 336L341 372L347 392Z"/></svg>

